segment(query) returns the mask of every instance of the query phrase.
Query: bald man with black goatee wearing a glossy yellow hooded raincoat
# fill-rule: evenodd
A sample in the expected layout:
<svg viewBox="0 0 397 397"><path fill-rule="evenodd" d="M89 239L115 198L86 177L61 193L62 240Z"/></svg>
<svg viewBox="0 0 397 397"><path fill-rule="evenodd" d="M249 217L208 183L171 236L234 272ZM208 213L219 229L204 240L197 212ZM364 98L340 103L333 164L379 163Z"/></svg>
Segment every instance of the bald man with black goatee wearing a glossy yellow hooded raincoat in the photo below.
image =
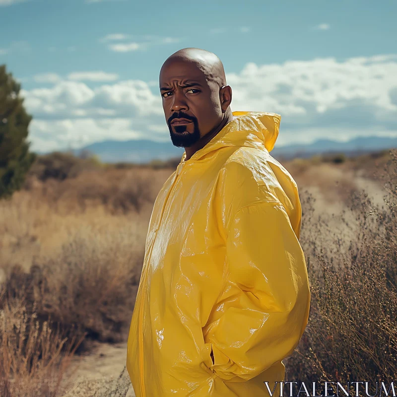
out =
<svg viewBox="0 0 397 397"><path fill-rule="evenodd" d="M160 91L185 153L150 219L128 338L133 389L280 396L281 360L310 305L297 186L269 155L281 118L232 114L222 63L195 48L166 60Z"/></svg>

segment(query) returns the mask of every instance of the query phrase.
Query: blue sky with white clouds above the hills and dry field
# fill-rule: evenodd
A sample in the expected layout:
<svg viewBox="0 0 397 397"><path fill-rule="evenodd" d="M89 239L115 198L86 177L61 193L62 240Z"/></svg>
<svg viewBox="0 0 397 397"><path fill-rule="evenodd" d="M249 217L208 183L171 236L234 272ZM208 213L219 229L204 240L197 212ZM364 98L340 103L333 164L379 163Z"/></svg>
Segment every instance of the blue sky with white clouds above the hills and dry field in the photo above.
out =
<svg viewBox="0 0 397 397"><path fill-rule="evenodd" d="M281 115L276 146L397 136L397 0L0 0L0 65L37 151L169 141L163 62L214 52L232 111Z"/></svg>

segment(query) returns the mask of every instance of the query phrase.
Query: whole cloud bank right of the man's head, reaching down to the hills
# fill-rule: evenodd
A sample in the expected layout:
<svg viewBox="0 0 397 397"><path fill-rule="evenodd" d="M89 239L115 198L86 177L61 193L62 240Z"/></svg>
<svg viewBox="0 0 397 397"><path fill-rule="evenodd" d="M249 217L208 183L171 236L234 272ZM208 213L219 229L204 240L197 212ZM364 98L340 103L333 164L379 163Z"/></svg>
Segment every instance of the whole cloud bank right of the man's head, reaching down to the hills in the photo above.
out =
<svg viewBox="0 0 397 397"><path fill-rule="evenodd" d="M226 75L233 110L279 113L278 143L339 136L397 135L395 55L247 64Z"/></svg>

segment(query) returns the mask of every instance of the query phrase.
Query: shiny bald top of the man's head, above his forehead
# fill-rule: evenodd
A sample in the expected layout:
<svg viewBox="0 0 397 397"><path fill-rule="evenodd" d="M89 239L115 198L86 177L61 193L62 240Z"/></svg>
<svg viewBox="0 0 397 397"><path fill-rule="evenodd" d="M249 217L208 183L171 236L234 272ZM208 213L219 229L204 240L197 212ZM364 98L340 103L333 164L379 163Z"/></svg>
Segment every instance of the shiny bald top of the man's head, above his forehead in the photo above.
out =
<svg viewBox="0 0 397 397"><path fill-rule="evenodd" d="M191 63L204 73L208 81L214 81L219 87L226 85L223 64L214 53L199 48L184 48L168 57L161 70L172 65L175 61Z"/></svg>

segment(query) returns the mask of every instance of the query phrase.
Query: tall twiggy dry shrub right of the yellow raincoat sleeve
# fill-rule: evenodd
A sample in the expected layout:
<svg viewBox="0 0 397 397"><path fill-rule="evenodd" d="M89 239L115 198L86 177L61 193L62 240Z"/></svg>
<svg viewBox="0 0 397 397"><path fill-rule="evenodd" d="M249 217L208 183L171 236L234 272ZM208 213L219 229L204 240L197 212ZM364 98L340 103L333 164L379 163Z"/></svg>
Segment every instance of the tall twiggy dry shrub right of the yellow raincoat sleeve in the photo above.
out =
<svg viewBox="0 0 397 397"><path fill-rule="evenodd" d="M362 191L338 216L350 242L323 214L315 216L313 197L302 200L312 304L301 342L285 360L288 381L346 385L397 377L397 151L390 153L384 205ZM324 235L332 245L319 243Z"/></svg>

